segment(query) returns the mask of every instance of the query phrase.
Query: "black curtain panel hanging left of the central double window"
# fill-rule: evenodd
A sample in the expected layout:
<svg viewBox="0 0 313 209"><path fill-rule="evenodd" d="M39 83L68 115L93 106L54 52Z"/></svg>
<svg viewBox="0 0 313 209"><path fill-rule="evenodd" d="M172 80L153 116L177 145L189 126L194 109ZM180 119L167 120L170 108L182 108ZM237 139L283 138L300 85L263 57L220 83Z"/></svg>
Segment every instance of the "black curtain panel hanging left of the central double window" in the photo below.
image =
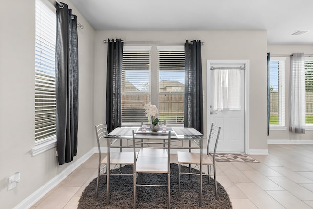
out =
<svg viewBox="0 0 313 209"><path fill-rule="evenodd" d="M106 122L108 132L122 125L123 40L108 39Z"/></svg>

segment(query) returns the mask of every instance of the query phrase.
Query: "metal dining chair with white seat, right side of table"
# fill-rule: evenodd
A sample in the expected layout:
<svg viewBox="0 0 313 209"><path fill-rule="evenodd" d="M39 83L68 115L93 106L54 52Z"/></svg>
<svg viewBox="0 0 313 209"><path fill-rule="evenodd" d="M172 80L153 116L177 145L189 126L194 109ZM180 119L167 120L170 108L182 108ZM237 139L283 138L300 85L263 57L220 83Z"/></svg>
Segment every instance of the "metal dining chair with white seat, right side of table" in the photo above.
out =
<svg viewBox="0 0 313 209"><path fill-rule="evenodd" d="M202 164L207 165L207 174L203 174L203 176L208 176L208 181L210 182L210 176L214 176L214 183L215 183L215 198L218 199L217 195L217 181L216 181L216 165L215 165L215 154L216 148L220 136L221 127L215 126L213 123L210 129L210 135L207 142L206 153L203 153L202 157ZM210 156L209 152L209 145L210 142L215 140L214 151L212 156ZM180 194L180 175L181 174L188 174L188 175L199 175L199 173L193 173L193 169L189 169L190 172L181 172L181 164L189 164L191 165L200 165L200 153L194 152L177 152L177 161L178 161L178 192ZM211 172L213 167L213 174Z"/></svg>

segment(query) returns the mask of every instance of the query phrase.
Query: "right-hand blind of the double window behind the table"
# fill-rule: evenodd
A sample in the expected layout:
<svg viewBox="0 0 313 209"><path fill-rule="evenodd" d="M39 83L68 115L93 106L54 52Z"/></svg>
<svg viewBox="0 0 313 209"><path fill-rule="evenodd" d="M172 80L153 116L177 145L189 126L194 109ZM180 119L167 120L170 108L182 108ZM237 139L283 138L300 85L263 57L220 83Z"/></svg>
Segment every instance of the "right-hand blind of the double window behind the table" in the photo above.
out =
<svg viewBox="0 0 313 209"><path fill-rule="evenodd" d="M158 46L159 119L167 124L184 124L184 47Z"/></svg>

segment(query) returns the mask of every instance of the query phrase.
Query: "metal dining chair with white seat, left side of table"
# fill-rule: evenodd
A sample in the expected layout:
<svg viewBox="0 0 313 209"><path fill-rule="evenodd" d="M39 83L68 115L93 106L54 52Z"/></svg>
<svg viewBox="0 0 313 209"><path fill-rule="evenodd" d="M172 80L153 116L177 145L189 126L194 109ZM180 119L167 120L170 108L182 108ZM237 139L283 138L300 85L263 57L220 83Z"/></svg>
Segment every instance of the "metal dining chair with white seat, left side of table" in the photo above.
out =
<svg viewBox="0 0 313 209"><path fill-rule="evenodd" d="M107 174L107 166L110 165L133 165L134 166L134 153L133 152L110 152L110 155L105 156L103 159L101 157L101 149L100 149L100 140L106 139L107 146L111 143L109 138L106 138L108 135L107 124L99 124L95 126L96 135L97 135L97 145L99 152L99 164L98 164L98 179L97 179L97 187L96 187L96 197L98 197L98 189L99 189L99 178L100 175L134 175L134 173L122 173L121 169L117 166L119 170L118 173L109 173ZM135 154L138 154L135 153ZM110 161L110 165L108 165L108 161ZM107 205L109 204L109 185L107 184L106 188L107 192Z"/></svg>

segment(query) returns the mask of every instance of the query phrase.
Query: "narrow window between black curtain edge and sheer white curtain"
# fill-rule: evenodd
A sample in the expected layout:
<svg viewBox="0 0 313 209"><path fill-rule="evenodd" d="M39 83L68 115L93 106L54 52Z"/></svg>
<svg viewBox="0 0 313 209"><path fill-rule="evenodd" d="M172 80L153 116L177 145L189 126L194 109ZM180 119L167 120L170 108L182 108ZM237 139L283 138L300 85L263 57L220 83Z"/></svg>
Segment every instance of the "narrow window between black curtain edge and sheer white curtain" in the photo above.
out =
<svg viewBox="0 0 313 209"><path fill-rule="evenodd" d="M270 126L285 126L285 60L270 59Z"/></svg>

